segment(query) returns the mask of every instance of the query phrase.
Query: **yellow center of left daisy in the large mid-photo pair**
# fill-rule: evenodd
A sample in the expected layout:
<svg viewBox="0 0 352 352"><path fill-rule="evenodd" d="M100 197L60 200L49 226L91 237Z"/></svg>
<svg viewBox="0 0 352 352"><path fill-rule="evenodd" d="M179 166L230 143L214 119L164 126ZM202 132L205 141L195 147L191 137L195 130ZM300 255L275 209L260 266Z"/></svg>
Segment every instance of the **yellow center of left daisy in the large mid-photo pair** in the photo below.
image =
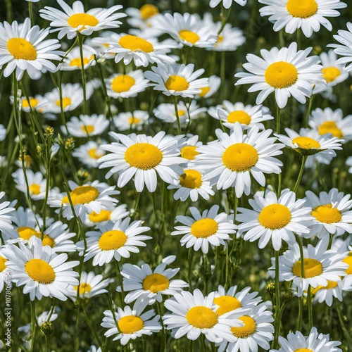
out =
<svg viewBox="0 0 352 352"><path fill-rule="evenodd" d="M155 168L163 160L163 153L153 144L137 143L125 151L125 161L134 168L149 170Z"/></svg>

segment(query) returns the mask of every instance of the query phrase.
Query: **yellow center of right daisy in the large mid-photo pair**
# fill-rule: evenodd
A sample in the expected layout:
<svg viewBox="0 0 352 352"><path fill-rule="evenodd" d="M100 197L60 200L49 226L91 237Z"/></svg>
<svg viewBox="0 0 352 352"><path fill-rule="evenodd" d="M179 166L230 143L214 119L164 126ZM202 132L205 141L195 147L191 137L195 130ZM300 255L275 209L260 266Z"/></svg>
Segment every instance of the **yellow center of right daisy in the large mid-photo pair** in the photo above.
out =
<svg viewBox="0 0 352 352"><path fill-rule="evenodd" d="M232 172L251 170L258 161L256 149L246 143L237 143L229 146L222 154L222 163Z"/></svg>

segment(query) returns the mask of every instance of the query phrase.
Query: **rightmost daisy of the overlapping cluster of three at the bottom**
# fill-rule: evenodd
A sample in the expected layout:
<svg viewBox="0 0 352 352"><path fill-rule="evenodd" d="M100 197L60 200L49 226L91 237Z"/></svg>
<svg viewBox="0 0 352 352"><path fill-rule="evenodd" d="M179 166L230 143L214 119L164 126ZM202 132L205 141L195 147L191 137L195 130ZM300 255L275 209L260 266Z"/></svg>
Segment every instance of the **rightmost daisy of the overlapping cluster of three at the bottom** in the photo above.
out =
<svg viewBox="0 0 352 352"><path fill-rule="evenodd" d="M272 318L272 312L268 310L268 306L265 303L253 306L250 312L239 317L239 320L243 322L244 326L230 327L230 332L234 335L235 341L222 341L218 351L257 352L258 346L268 351L270 349L269 341L274 339L274 326L271 324L274 318Z"/></svg>

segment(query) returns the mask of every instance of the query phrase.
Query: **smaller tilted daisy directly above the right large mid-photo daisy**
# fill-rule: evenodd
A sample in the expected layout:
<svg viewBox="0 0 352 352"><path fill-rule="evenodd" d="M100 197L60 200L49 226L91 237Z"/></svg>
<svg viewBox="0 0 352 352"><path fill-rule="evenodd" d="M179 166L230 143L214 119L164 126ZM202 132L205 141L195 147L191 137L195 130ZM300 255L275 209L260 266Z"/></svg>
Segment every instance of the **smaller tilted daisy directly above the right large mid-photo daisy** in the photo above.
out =
<svg viewBox="0 0 352 352"><path fill-rule="evenodd" d="M244 103L230 103L230 101L222 101L222 105L216 108L210 108L208 114L222 121L222 125L233 129L236 122L241 124L244 130L254 125L260 130L264 130L263 121L273 120L270 110L263 105L244 105Z"/></svg>

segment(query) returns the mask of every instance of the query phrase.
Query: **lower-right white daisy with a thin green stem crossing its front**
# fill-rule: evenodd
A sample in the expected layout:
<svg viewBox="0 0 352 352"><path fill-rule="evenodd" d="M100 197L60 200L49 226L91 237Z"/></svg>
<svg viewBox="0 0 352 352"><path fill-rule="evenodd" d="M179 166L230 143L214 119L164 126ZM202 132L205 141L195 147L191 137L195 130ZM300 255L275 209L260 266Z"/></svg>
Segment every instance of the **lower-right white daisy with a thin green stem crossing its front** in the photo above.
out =
<svg viewBox="0 0 352 352"><path fill-rule="evenodd" d="M303 246L303 277L301 276L301 255L299 246L295 243L282 256L279 256L279 281L293 281L298 288L298 296L303 294L308 287L315 289L318 286L327 286L328 280L341 281L346 276L348 264L344 263L344 253L338 253L334 249L327 250L329 237L323 237L317 246L311 244ZM271 259L275 270L275 258Z"/></svg>

